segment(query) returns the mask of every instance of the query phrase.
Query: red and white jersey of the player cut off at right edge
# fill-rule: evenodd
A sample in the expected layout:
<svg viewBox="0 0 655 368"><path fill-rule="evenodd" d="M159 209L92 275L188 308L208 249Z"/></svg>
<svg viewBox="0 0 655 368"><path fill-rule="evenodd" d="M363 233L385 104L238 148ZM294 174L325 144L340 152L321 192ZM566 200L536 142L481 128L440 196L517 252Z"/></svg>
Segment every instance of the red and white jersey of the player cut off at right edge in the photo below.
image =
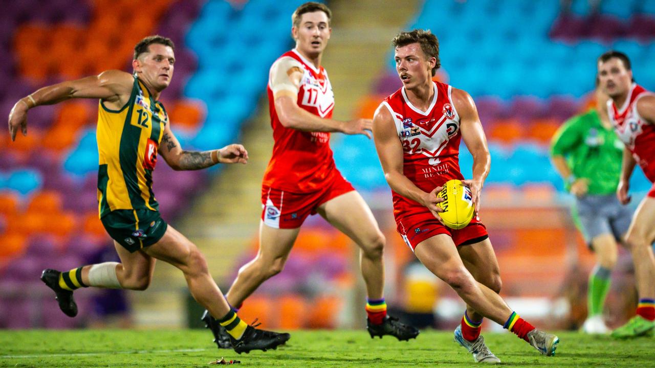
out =
<svg viewBox="0 0 655 368"><path fill-rule="evenodd" d="M614 131L631 151L648 180L655 182L655 125L637 112L637 100L646 95L652 96L653 93L633 83L620 109L612 100L607 101L607 107Z"/></svg>

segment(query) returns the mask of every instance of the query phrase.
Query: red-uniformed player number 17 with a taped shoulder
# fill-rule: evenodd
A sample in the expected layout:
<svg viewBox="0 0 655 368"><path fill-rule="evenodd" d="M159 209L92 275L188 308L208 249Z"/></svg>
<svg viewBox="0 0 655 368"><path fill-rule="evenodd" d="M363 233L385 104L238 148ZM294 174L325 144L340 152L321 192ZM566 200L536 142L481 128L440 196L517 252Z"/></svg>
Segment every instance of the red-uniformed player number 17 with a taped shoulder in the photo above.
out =
<svg viewBox="0 0 655 368"><path fill-rule="evenodd" d="M267 89L275 142L261 190L259 253L239 270L226 297L238 308L259 285L282 271L303 221L319 213L361 248L371 337L413 339L419 334L417 329L386 314L384 236L362 196L335 167L329 147L330 132L371 138L371 119L331 119L334 95L321 66L331 34L330 18L324 4L298 7L291 16L295 48L271 66ZM219 348L227 348L224 329L209 314L203 320Z"/></svg>

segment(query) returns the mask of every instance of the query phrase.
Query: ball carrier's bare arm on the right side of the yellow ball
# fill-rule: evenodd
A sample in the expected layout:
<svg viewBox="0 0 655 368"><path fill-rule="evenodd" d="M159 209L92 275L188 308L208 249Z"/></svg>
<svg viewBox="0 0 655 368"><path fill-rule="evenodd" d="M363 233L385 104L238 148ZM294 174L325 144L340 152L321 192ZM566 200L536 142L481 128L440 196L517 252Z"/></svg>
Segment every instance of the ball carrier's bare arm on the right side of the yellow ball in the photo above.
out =
<svg viewBox="0 0 655 368"><path fill-rule="evenodd" d="M462 139L473 156L473 178L463 182L471 189L477 212L480 208L480 191L489 175L491 155L489 155L485 132L477 115L476 104L471 96L463 90L453 88L451 97L459 114Z"/></svg>

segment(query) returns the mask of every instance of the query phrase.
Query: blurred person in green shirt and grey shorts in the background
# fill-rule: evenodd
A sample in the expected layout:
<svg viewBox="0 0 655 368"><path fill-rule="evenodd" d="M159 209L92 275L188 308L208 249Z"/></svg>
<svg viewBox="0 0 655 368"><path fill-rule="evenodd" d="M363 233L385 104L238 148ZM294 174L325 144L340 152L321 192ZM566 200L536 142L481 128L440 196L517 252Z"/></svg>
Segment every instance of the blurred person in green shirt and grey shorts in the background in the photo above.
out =
<svg viewBox="0 0 655 368"><path fill-rule="evenodd" d="M622 242L632 211L616 198L624 145L607 116L608 96L596 79L595 106L567 120L551 145L551 158L565 187L575 196L574 220L596 265L589 275L588 317L582 325L586 333L608 333L603 306L610 289L610 274L616 265L616 242Z"/></svg>

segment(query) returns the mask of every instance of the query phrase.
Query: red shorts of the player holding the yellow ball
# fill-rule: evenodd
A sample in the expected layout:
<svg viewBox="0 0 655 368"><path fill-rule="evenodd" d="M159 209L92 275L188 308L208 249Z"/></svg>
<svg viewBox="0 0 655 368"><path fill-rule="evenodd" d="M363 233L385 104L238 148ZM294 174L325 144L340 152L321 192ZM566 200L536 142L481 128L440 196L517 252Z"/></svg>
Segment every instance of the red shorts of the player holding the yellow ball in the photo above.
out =
<svg viewBox="0 0 655 368"><path fill-rule="evenodd" d="M427 208L425 208L424 212L412 213L402 218L396 218L396 224L398 225L398 232L400 232L403 240L405 240L405 244L412 251L422 241L438 234L451 236L455 246L466 244L470 240L479 239L481 241L489 235L487 234L487 227L480 222L480 218L477 215L473 217L464 229L455 230L440 223Z"/></svg>

